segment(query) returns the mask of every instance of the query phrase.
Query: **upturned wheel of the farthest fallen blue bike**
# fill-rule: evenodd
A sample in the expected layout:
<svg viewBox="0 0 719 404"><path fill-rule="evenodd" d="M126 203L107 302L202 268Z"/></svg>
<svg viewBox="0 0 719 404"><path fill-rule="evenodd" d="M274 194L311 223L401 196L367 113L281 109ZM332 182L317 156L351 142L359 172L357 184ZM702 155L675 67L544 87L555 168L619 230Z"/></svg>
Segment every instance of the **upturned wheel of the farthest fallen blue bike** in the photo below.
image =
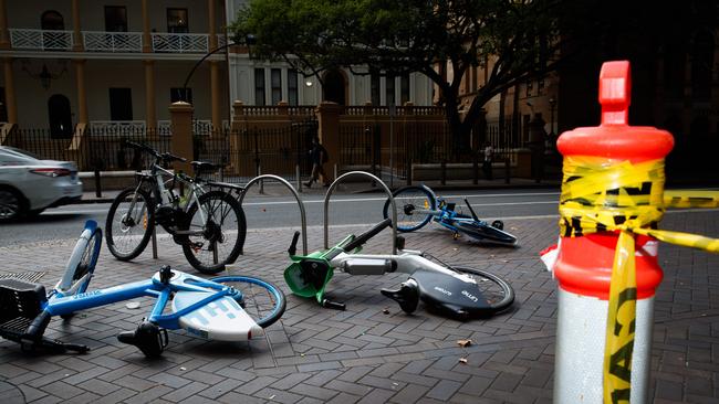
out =
<svg viewBox="0 0 719 404"><path fill-rule="evenodd" d="M424 187L403 187L393 193L397 205L397 230L400 232L414 232L424 227L431 220L429 213L415 213L415 210L436 210L437 201L435 195ZM389 199L385 201L382 214L389 217Z"/></svg>

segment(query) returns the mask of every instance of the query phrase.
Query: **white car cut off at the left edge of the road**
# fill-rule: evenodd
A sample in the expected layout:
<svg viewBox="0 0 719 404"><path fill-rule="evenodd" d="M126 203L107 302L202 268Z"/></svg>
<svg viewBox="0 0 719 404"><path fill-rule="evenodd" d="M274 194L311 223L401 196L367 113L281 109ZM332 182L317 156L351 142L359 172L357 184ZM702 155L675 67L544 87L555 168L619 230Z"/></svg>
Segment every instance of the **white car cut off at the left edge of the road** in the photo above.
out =
<svg viewBox="0 0 719 404"><path fill-rule="evenodd" d="M0 222L80 201L82 182L71 161L40 160L0 146Z"/></svg>

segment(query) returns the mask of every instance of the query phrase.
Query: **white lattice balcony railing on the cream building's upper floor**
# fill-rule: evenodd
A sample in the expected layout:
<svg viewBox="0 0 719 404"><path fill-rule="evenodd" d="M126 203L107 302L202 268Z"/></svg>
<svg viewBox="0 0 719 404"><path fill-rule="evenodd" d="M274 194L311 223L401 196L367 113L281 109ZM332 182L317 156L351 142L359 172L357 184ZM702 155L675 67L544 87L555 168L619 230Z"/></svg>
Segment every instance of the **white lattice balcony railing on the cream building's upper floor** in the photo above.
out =
<svg viewBox="0 0 719 404"><path fill-rule="evenodd" d="M10 29L10 41L17 50L71 51L79 41L73 31ZM207 53L209 34L153 33L150 49L157 53ZM82 40L87 52L139 53L143 52L142 32L83 31ZM227 43L217 35L218 46Z"/></svg>

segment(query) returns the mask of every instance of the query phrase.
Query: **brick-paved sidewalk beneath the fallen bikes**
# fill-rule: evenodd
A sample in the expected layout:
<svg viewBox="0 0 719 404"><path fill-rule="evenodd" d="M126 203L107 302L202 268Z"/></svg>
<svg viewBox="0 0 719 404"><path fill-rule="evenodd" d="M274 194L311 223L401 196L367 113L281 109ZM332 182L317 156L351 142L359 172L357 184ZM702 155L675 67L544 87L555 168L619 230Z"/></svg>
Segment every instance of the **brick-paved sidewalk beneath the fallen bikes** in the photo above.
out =
<svg viewBox="0 0 719 404"><path fill-rule="evenodd" d="M667 214L663 228L719 236L719 212ZM51 337L92 347L87 354L25 355L0 342L0 397L7 403L550 403L553 390L555 283L538 252L558 234L555 219L507 221L520 248L452 241L428 226L407 235L407 247L442 261L489 269L517 290L511 312L458 322L420 308L406 316L379 295L402 275L348 277L336 274L329 287L347 310L320 308L288 295L281 321L267 340L207 342L170 332L159 360L147 360L115 334L132 330L148 310L123 304L53 320ZM337 241L348 227L331 230ZM80 227L79 227L80 231ZM361 232L362 228L354 228ZM368 252L386 252L389 232L371 241ZM250 230L246 255L232 274L261 276L281 286L292 230ZM317 227L310 249L321 245ZM0 247L0 273L45 270L51 286L74 241ZM160 264L192 272L179 246L160 237L160 259L149 249L132 263L115 261L103 247L91 288L150 276ZM665 279L656 297L650 402L716 403L719 400L719 256L661 245ZM387 308L388 313L383 309ZM471 339L461 348L459 339ZM460 363L459 359L467 359ZM577 370L581 371L581 370Z"/></svg>

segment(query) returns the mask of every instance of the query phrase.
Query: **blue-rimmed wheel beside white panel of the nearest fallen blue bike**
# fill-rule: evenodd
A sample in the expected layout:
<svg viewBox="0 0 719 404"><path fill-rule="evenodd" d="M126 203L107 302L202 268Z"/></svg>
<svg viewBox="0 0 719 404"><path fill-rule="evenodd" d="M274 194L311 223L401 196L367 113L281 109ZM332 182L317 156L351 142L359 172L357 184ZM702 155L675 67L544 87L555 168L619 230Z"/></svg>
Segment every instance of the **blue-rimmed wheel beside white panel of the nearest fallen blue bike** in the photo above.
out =
<svg viewBox="0 0 719 404"><path fill-rule="evenodd" d="M220 276L210 280L240 291L240 306L262 328L271 326L284 312L284 294L267 280L250 276Z"/></svg>

